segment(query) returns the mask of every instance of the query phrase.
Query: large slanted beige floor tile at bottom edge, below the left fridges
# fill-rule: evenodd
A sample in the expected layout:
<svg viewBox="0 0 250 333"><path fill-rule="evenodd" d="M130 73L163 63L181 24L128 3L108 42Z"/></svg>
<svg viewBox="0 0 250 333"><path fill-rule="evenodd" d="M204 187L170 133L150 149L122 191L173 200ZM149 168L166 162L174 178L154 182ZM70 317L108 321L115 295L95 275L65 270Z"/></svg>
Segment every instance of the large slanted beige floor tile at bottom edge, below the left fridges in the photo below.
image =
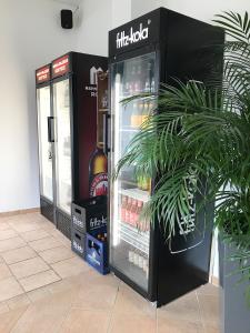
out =
<svg viewBox="0 0 250 333"><path fill-rule="evenodd" d="M72 293L57 294L32 303L18 321L11 333L59 332L69 312L72 296Z"/></svg>

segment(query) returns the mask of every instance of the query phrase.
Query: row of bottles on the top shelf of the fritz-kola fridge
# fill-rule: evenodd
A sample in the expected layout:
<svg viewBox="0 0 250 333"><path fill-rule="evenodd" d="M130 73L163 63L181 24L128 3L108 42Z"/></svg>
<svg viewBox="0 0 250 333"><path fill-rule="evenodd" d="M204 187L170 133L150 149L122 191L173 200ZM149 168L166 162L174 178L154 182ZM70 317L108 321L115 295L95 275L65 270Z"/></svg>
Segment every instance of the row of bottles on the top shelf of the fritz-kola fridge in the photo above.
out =
<svg viewBox="0 0 250 333"><path fill-rule="evenodd" d="M132 64L131 69L128 69L129 80L124 82L123 93L134 94L141 92L153 92L156 89L154 78L151 74L151 64L147 68L142 68L141 63Z"/></svg>

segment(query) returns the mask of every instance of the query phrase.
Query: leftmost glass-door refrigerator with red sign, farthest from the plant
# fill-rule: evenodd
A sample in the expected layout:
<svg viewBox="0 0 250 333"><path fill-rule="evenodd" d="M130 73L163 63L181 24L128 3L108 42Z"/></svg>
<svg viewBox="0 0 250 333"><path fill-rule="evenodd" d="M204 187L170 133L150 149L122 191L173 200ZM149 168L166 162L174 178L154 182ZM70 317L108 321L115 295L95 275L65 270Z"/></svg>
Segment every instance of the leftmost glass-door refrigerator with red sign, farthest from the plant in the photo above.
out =
<svg viewBox="0 0 250 333"><path fill-rule="evenodd" d="M50 64L36 71L38 145L41 213L54 222L53 216L53 138L51 137L51 72Z"/></svg>

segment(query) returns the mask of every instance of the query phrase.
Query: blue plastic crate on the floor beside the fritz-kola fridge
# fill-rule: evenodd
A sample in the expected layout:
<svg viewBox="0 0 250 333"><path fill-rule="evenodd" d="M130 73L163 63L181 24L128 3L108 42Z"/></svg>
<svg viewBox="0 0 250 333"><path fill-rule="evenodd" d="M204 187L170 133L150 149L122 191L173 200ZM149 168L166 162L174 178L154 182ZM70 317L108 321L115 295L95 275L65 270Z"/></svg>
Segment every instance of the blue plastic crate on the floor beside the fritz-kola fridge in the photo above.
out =
<svg viewBox="0 0 250 333"><path fill-rule="evenodd" d="M109 273L108 244L86 234L86 261L101 274Z"/></svg>

